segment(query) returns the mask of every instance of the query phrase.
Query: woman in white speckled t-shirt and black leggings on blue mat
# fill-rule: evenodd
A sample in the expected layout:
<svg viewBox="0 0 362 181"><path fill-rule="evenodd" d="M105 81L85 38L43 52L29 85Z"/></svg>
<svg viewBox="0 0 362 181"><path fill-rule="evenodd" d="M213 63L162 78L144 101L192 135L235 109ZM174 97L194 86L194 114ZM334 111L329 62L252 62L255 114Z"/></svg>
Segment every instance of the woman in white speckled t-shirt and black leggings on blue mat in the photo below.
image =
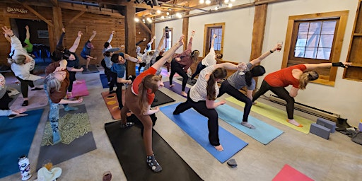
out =
<svg viewBox="0 0 362 181"><path fill-rule="evenodd" d="M226 77L226 69L243 71L242 65L245 66L245 64L235 65L223 63L208 66L203 69L196 83L192 86L189 93L187 93L186 102L177 105L173 112L174 115L179 115L190 108L194 108L194 110L207 117L209 141L217 151L223 151L223 146L221 146L218 139L218 113L215 108L226 103L225 100L215 102L219 93L217 81L221 81L221 79Z"/></svg>

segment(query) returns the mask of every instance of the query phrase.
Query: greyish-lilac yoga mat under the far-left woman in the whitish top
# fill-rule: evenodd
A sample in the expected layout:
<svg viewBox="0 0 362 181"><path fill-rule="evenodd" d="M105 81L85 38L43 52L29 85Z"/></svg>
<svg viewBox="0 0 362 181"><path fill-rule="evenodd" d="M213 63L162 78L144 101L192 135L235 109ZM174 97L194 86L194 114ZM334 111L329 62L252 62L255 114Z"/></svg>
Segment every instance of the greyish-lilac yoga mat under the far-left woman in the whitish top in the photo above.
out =
<svg viewBox="0 0 362 181"><path fill-rule="evenodd" d="M29 88L28 91L28 98L29 98L29 104L28 106L22 106L24 100L23 95L21 93L18 95L18 98L11 104L10 109L11 110L18 110L21 108L26 108L27 110L36 110L40 109L42 107L45 107L48 105L48 98L45 94L45 90L37 90L37 91L31 91L31 88Z"/></svg>

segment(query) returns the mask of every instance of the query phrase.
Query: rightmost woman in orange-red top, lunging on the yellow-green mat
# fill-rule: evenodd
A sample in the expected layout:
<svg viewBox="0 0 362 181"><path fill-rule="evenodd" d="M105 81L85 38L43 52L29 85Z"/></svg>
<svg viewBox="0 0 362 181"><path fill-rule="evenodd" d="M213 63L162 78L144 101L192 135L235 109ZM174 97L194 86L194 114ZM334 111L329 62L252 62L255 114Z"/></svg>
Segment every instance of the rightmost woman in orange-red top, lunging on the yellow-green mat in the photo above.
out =
<svg viewBox="0 0 362 181"><path fill-rule="evenodd" d="M263 95L267 91L271 91L276 94L279 98L286 101L286 112L288 114L287 122L296 125L297 127L303 127L302 124L299 124L293 118L294 110L294 97L298 95L298 90L304 90L309 81L316 80L319 75L316 71L311 71L313 69L319 68L329 68L331 66L341 66L347 67L351 63L322 63L322 64L298 64L295 66L289 66L279 71L274 71L273 73L265 76L262 86L260 86L259 91L257 91L252 98L254 103L260 95ZM286 91L286 86L292 85L291 91Z"/></svg>

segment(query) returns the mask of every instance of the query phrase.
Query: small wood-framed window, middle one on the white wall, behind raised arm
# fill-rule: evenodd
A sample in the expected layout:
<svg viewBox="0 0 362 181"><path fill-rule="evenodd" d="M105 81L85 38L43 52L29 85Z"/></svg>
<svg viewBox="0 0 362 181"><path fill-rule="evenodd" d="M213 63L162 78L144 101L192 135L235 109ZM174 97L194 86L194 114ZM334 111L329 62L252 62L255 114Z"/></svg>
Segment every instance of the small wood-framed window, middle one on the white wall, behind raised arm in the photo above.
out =
<svg viewBox="0 0 362 181"><path fill-rule="evenodd" d="M214 49L216 53L223 53L223 32L225 23L214 23L205 25L204 33L204 57L209 54L211 47L211 40L214 34L217 35L214 41Z"/></svg>

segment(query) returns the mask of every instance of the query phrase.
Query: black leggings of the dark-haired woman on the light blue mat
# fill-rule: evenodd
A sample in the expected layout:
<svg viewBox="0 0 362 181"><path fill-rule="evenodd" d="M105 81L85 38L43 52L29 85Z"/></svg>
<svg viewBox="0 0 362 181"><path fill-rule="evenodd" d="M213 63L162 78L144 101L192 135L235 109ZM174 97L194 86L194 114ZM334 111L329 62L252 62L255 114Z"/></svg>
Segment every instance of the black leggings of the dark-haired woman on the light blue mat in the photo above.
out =
<svg viewBox="0 0 362 181"><path fill-rule="evenodd" d="M247 98L247 96L241 93L238 89L231 86L228 80L223 81L221 84L218 97L221 97L224 93L227 93L228 95L233 96L233 98L245 103L243 122L247 122L247 117L249 117L250 109L252 108L252 100Z"/></svg>

